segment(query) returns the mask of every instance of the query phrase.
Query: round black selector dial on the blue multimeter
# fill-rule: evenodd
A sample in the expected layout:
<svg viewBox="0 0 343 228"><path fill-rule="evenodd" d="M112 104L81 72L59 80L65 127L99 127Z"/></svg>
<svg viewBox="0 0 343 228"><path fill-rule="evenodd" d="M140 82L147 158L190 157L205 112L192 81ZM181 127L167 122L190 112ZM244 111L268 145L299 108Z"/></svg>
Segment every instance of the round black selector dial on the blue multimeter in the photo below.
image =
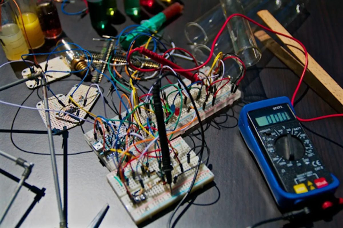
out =
<svg viewBox="0 0 343 228"><path fill-rule="evenodd" d="M291 134L281 135L275 141L275 151L286 160L298 160L305 154L304 144Z"/></svg>

